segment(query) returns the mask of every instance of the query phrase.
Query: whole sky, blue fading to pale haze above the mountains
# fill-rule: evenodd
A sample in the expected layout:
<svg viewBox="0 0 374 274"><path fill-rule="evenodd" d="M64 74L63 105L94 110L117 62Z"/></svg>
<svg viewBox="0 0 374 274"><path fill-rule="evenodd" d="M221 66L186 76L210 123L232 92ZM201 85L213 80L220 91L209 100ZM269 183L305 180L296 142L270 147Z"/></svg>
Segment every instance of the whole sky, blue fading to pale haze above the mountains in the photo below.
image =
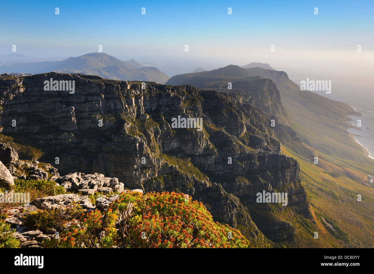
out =
<svg viewBox="0 0 374 274"><path fill-rule="evenodd" d="M0 54L15 44L28 56L79 56L101 44L117 58L167 63L175 73L183 72L178 62L188 69L268 62L295 72L304 62L316 70L358 44L361 59L373 56L373 12L374 1L2 1ZM346 65L361 62L352 56Z"/></svg>

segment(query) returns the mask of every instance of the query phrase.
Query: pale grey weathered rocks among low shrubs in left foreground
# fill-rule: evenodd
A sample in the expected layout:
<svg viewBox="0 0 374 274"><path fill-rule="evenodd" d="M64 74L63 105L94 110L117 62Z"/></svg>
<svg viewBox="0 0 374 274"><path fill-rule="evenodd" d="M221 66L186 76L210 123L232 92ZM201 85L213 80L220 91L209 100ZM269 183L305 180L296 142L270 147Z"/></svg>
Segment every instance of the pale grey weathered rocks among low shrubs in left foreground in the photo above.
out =
<svg viewBox="0 0 374 274"><path fill-rule="evenodd" d="M65 211L73 204L82 207L82 212L94 209L106 210L109 204L119 197L119 194L113 195L114 192L128 191L124 190L124 185L118 181L118 178L105 177L100 173L83 174L75 172L59 176L57 169L50 164L40 163L36 160L19 160L15 150L3 143L0 143L0 159L0 182L1 186L6 189L14 185L15 179L47 180L55 181L56 185L61 185L65 191L72 192L37 198L30 204L9 207L4 210L3 213L8 216L5 222L13 228L13 236L21 242L20 247L40 248L42 247L40 243L43 240L55 238L58 235L57 233L62 233L73 224L73 222L68 222L63 227L50 229L46 234L43 234L40 230L32 230L26 226L24 217L27 213L56 209ZM3 162L7 163L7 167L4 166ZM102 194L95 199L93 204L87 195L94 194L96 191ZM139 189L132 191L143 193Z"/></svg>

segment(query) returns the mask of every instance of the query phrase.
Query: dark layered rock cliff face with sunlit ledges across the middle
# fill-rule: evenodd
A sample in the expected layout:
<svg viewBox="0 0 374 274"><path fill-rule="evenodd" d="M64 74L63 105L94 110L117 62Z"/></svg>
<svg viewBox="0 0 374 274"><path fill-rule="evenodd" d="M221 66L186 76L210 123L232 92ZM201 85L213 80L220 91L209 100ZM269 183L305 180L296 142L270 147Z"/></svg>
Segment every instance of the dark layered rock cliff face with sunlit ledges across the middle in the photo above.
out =
<svg viewBox="0 0 374 274"><path fill-rule="evenodd" d="M45 91L50 78L75 81L75 92ZM271 83L255 84L266 91ZM252 221L258 192L288 191L288 207L309 216L300 167L280 154L270 119L254 101L190 85L147 82L142 89L141 82L58 73L3 75L0 97L1 133L42 150L40 160L62 175L97 172L127 188L183 192L253 239L263 238L261 228L274 241L292 239L295 230ZM202 118L202 130L172 127L178 116Z"/></svg>

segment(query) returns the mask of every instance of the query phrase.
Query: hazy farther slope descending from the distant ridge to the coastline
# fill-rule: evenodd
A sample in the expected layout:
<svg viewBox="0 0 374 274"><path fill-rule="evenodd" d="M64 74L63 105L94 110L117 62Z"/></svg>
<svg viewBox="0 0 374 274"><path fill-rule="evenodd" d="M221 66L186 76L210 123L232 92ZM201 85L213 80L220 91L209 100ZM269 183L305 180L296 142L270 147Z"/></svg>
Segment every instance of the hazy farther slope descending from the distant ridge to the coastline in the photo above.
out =
<svg viewBox="0 0 374 274"><path fill-rule="evenodd" d="M362 147L346 131L346 115L353 113L349 105L301 91L284 71L263 68L248 68L246 71L251 76L270 78L276 83L282 104L293 121L288 126L305 144L318 150L319 157L365 174L374 173L374 160L365 156Z"/></svg>

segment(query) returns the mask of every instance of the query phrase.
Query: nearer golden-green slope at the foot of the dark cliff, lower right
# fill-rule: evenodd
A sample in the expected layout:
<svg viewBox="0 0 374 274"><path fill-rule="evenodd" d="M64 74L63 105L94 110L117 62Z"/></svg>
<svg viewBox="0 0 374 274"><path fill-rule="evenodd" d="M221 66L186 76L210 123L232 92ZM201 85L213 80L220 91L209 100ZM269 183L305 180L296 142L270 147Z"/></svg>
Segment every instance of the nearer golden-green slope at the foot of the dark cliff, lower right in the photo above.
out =
<svg viewBox="0 0 374 274"><path fill-rule="evenodd" d="M322 169L283 145L282 153L300 163L300 176L317 221L319 239L315 240L334 247L374 247L374 189ZM357 201L358 194L361 201ZM332 225L332 232L322 218Z"/></svg>

